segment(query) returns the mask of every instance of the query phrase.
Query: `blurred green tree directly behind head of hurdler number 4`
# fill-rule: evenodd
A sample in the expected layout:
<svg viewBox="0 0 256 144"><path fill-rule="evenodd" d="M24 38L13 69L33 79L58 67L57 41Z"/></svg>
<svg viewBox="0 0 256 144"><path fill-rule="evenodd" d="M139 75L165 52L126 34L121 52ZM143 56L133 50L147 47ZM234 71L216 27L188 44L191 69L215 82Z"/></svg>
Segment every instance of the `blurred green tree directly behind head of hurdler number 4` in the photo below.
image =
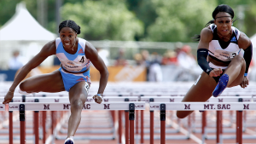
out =
<svg viewBox="0 0 256 144"><path fill-rule="evenodd" d="M134 40L143 34L143 22L127 9L124 0L66 3L61 15L63 20L76 21L81 27L80 37L90 40Z"/></svg>

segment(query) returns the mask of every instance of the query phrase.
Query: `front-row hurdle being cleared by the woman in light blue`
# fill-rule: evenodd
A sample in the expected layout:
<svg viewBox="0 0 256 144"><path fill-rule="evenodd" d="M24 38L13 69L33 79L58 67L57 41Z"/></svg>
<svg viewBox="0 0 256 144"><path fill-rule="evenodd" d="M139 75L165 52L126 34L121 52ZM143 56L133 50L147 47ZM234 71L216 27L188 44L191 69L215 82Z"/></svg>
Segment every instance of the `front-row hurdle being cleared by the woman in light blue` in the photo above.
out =
<svg viewBox="0 0 256 144"><path fill-rule="evenodd" d="M84 104L83 110L129 110L130 119L130 143L134 144L134 111L144 110L145 102L135 101L129 102L108 102L102 104L87 103ZM0 111L4 111L5 107L0 104ZM10 111L20 111L20 143L25 144L25 111L69 111L69 103L55 102L12 102L9 103ZM36 125L35 127L38 127ZM37 132L35 132L37 133ZM37 137L37 136L36 136ZM38 140L36 140L36 143Z"/></svg>

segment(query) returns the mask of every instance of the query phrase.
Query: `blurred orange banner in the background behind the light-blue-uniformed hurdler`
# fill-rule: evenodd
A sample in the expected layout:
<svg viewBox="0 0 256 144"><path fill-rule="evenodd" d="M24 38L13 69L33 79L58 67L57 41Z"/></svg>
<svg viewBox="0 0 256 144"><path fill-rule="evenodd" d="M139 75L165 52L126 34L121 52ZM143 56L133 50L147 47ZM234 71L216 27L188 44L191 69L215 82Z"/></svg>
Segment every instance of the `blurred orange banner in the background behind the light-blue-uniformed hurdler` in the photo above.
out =
<svg viewBox="0 0 256 144"><path fill-rule="evenodd" d="M60 66L38 67L42 73L53 72L59 68ZM110 82L144 82L147 79L145 66L108 66L108 72L108 81ZM100 72L94 66L90 66L90 80L99 81L100 77Z"/></svg>

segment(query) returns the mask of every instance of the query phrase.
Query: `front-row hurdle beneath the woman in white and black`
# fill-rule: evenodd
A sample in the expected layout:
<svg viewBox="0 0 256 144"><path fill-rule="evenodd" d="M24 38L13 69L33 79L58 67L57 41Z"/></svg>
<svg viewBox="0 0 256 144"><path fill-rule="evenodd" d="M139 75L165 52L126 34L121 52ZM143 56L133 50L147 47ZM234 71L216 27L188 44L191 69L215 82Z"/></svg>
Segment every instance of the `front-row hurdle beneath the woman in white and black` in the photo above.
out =
<svg viewBox="0 0 256 144"><path fill-rule="evenodd" d="M160 143L164 144L166 141L166 130L165 130L165 117L166 117L166 110L179 110L179 111L252 111L256 110L256 103L253 102L169 102L169 103L160 103L160 102L150 102L149 109L151 111L158 110L160 111L160 120L164 121L161 122L161 137ZM238 124L239 123L239 124ZM242 133L241 133L241 120L238 120L236 123L238 124L236 127L236 142L241 144L242 143ZM218 134L218 133L217 133ZM217 141L219 142L219 141Z"/></svg>

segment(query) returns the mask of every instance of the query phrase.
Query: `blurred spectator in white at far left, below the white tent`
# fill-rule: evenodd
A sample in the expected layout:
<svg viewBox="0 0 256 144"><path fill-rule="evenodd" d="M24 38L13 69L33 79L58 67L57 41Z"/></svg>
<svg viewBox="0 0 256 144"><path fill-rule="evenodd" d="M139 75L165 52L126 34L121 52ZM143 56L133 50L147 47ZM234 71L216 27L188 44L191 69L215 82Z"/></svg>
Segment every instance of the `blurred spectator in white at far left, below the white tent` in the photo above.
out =
<svg viewBox="0 0 256 144"><path fill-rule="evenodd" d="M26 61L20 56L20 51L15 50L13 52L13 57L9 60L9 69L19 70L20 67L24 66Z"/></svg>

